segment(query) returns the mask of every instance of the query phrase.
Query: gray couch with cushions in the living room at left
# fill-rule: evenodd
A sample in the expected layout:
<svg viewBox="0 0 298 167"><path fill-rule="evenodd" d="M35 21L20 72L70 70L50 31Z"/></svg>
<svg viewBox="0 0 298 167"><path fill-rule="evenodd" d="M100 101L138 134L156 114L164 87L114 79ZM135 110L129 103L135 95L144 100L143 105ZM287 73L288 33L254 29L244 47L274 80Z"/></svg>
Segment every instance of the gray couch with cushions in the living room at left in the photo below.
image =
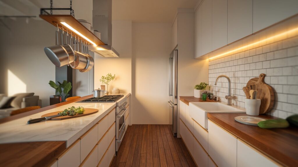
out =
<svg viewBox="0 0 298 167"><path fill-rule="evenodd" d="M15 96L15 99L11 102L12 107L0 109L0 119L10 116L10 113L13 110L18 110L20 108L30 107L30 106L40 106L41 99L39 96L33 96L34 93L18 93ZM4 94L0 94L0 101L4 97Z"/></svg>

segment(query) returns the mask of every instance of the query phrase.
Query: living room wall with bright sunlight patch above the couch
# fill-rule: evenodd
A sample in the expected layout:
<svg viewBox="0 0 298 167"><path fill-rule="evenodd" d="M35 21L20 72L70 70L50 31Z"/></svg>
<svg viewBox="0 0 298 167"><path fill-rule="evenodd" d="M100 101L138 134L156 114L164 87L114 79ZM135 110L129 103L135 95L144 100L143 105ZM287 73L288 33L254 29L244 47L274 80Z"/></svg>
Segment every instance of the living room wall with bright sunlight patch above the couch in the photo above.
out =
<svg viewBox="0 0 298 167"><path fill-rule="evenodd" d="M33 19L26 23L25 18L3 21L10 30L0 26L0 93L34 92L43 106L49 105L49 96L55 94L48 84L55 81L55 65L46 57L44 47L55 44L55 27Z"/></svg>

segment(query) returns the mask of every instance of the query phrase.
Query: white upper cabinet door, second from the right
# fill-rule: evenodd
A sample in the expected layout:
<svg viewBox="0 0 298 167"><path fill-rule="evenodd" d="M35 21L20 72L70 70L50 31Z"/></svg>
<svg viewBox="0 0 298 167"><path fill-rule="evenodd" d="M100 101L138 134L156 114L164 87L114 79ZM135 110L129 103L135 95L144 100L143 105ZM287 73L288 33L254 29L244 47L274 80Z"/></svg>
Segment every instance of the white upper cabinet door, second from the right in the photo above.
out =
<svg viewBox="0 0 298 167"><path fill-rule="evenodd" d="M252 34L252 0L228 0L228 44Z"/></svg>

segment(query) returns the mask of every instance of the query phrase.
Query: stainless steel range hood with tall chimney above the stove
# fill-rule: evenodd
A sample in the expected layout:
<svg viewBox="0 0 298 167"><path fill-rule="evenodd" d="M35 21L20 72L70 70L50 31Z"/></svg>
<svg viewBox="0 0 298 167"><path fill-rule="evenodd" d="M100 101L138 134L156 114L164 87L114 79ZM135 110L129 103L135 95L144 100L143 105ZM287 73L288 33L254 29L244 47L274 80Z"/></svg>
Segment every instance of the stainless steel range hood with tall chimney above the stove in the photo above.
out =
<svg viewBox="0 0 298 167"><path fill-rule="evenodd" d="M119 57L112 47L112 1L93 0L92 16L94 30L101 33L101 40L107 45L91 46L90 50L102 57Z"/></svg>

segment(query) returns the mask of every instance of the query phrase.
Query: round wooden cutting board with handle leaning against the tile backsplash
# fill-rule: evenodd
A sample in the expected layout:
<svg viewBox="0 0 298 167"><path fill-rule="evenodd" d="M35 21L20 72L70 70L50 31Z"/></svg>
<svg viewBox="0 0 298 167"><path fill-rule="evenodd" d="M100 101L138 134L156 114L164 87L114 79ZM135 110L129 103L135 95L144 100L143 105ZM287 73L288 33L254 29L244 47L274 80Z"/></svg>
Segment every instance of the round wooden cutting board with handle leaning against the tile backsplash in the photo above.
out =
<svg viewBox="0 0 298 167"><path fill-rule="evenodd" d="M264 82L265 76L265 74L260 74L259 77L250 79L246 84L249 88L255 85L257 99L261 99L260 114L268 113L274 105L273 88Z"/></svg>

